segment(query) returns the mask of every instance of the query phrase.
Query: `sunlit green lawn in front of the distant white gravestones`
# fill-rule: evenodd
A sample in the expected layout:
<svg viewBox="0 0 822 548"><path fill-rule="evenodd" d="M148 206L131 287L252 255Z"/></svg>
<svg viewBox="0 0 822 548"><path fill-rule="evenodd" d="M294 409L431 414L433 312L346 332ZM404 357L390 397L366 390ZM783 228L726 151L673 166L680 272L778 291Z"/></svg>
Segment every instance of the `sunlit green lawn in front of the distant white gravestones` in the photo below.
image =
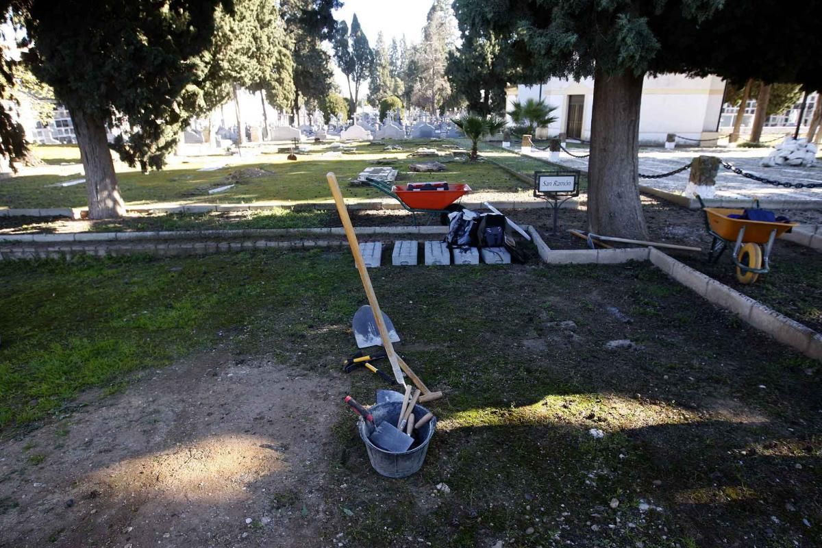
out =
<svg viewBox="0 0 822 548"><path fill-rule="evenodd" d="M244 151L244 157L207 156L171 159L169 166L160 172L147 174L116 163L118 180L123 199L127 204L148 203L249 203L256 201L282 200L286 202L331 201L326 183L326 173L333 171L341 183L343 194L349 199L382 198L370 188L352 188L345 183L356 177L363 168L373 165L376 159L393 159L394 167L401 172L408 171L409 163L424 162L425 158L407 158L418 146L441 145L428 140L402 141L402 151L385 151L381 145L357 144L356 154L333 155L328 145L309 145L312 153L298 156L298 161L290 162L286 154L265 150L255 154ZM276 150L274 147L273 150ZM47 208L82 207L86 205L85 187L46 187L55 182L63 182L82 177L81 165L59 165L65 161L78 161L76 147L35 147L35 154L43 156L49 163L45 168L35 168L19 177L0 180L0 207ZM439 159L445 162L446 159ZM450 160L448 158L447 160ZM53 164L53 165L51 165ZM198 171L209 166L228 164L215 171ZM448 161L447 170L441 173L409 173L404 181L450 181L467 182L474 191L520 193L529 195L524 183L499 168L483 163ZM544 164L543 164L544 165ZM259 168L262 177L242 177L236 187L215 195L209 195L211 188L234 182L229 176L240 169ZM26 175L25 173L36 173ZM506 198L510 199L510 198ZM520 198L521 199L521 198Z"/></svg>

